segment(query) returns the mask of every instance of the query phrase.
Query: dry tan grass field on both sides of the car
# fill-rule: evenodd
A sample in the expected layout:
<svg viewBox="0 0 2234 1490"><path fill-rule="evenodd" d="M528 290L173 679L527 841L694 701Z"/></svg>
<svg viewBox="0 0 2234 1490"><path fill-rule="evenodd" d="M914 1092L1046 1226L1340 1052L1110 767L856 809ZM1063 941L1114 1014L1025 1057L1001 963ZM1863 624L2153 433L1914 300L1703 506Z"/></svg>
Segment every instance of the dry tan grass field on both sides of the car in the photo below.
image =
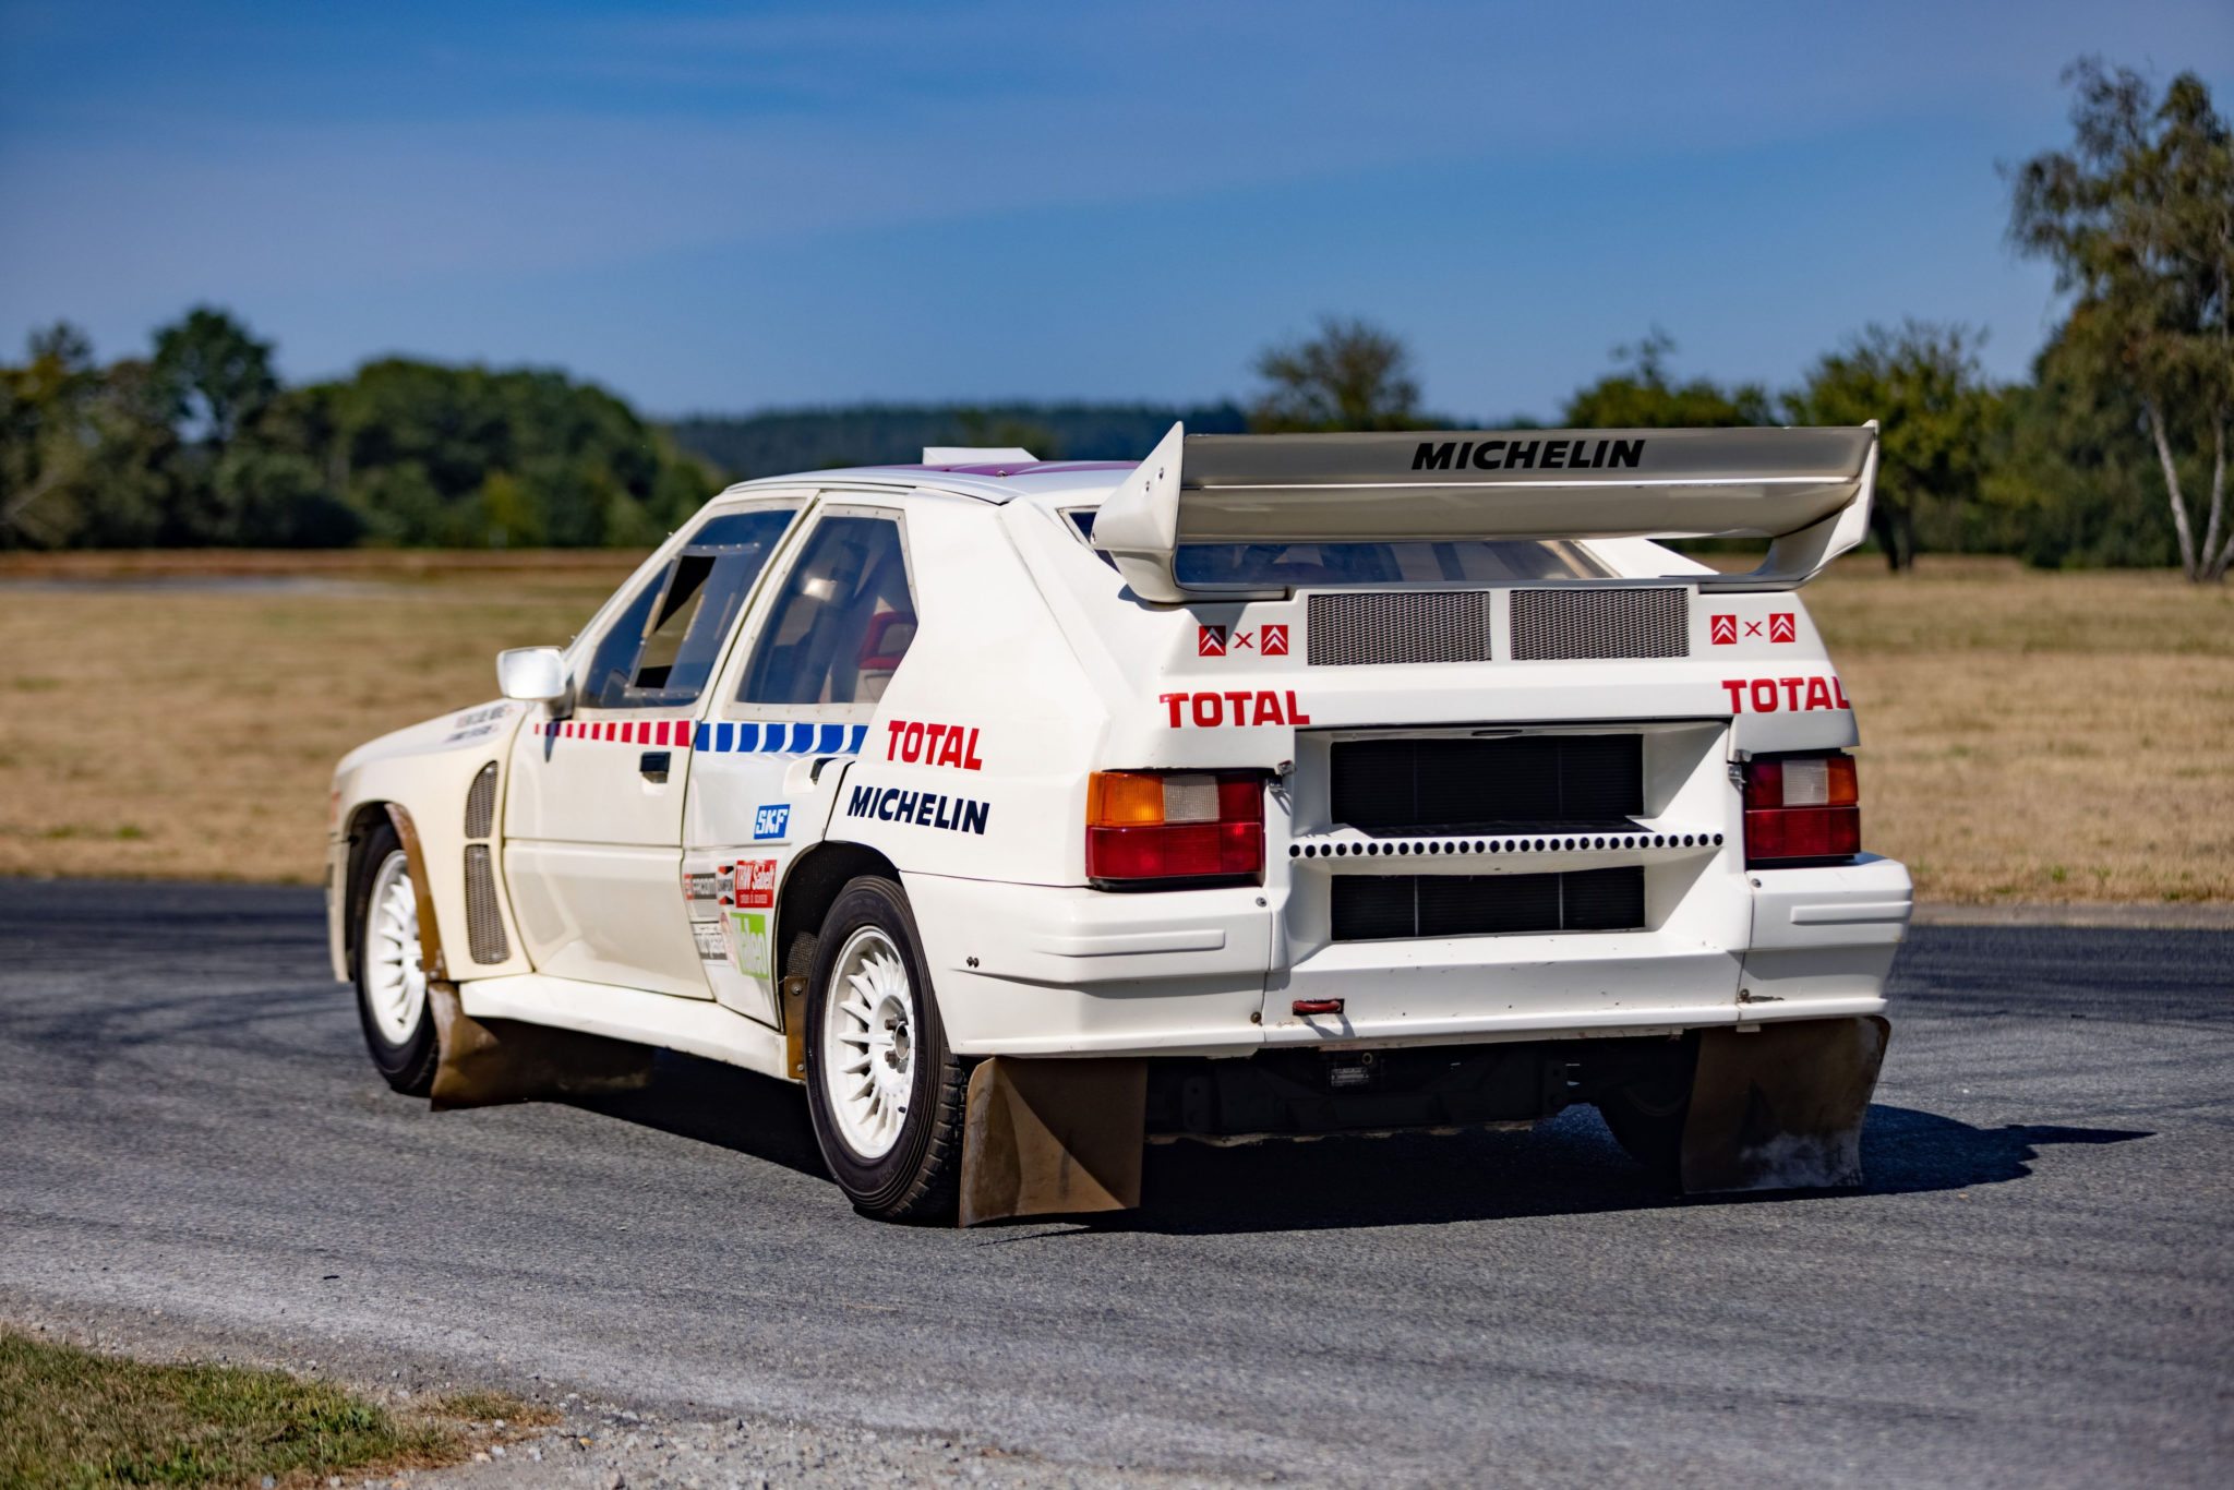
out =
<svg viewBox="0 0 2234 1490"><path fill-rule="evenodd" d="M0 558L0 873L315 880L333 762L630 554ZM1865 842L1932 900L2234 900L2234 590L1856 558L1807 590Z"/></svg>

